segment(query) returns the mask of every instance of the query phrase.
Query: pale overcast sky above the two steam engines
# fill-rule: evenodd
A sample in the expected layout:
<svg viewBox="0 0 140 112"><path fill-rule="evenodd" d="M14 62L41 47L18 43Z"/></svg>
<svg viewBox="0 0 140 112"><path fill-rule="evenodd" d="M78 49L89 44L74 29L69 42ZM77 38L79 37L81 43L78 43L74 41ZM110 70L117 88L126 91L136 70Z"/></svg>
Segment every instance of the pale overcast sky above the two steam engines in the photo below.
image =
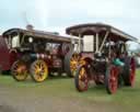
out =
<svg viewBox="0 0 140 112"><path fill-rule="evenodd" d="M102 22L140 36L140 0L0 0L0 31L25 27L65 33L80 23Z"/></svg>

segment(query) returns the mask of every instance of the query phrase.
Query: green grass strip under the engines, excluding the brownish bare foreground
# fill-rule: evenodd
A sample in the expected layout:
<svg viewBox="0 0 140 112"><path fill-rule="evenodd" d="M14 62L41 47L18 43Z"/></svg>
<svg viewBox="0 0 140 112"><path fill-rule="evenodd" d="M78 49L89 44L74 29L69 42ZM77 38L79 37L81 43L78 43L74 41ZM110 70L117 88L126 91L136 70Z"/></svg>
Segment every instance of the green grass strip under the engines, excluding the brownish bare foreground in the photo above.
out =
<svg viewBox="0 0 140 112"><path fill-rule="evenodd" d="M72 78L49 78L36 83L32 79L15 81L11 76L0 76L0 87L14 91L14 96L52 97L59 99L78 99L85 104L97 103L117 105L122 112L139 112L140 105L140 69L137 70L135 87L121 87L116 94L107 94L104 86L92 86L86 92L78 92Z"/></svg>

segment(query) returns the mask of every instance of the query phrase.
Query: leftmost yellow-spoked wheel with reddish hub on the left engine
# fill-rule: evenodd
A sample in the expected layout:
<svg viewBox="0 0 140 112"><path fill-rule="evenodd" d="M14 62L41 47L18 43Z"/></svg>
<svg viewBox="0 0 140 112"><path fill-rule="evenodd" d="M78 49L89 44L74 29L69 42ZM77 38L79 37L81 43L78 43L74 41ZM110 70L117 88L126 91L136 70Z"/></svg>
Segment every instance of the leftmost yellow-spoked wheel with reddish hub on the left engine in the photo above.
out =
<svg viewBox="0 0 140 112"><path fill-rule="evenodd" d="M27 67L22 60L15 61L11 67L11 74L18 81L23 81L27 78Z"/></svg>

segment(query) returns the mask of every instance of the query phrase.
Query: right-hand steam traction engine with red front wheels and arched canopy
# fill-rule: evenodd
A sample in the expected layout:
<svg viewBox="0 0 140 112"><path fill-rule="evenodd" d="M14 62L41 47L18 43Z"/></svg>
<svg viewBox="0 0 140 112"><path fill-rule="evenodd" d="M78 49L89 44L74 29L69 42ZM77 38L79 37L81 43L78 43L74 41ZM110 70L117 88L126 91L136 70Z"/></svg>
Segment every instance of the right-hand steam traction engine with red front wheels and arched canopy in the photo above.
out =
<svg viewBox="0 0 140 112"><path fill-rule="evenodd" d="M104 85L108 93L115 93L122 83L133 86L136 61L126 43L137 38L100 23L71 26L66 32L81 38L80 53L70 61L78 91L88 90L91 80Z"/></svg>

